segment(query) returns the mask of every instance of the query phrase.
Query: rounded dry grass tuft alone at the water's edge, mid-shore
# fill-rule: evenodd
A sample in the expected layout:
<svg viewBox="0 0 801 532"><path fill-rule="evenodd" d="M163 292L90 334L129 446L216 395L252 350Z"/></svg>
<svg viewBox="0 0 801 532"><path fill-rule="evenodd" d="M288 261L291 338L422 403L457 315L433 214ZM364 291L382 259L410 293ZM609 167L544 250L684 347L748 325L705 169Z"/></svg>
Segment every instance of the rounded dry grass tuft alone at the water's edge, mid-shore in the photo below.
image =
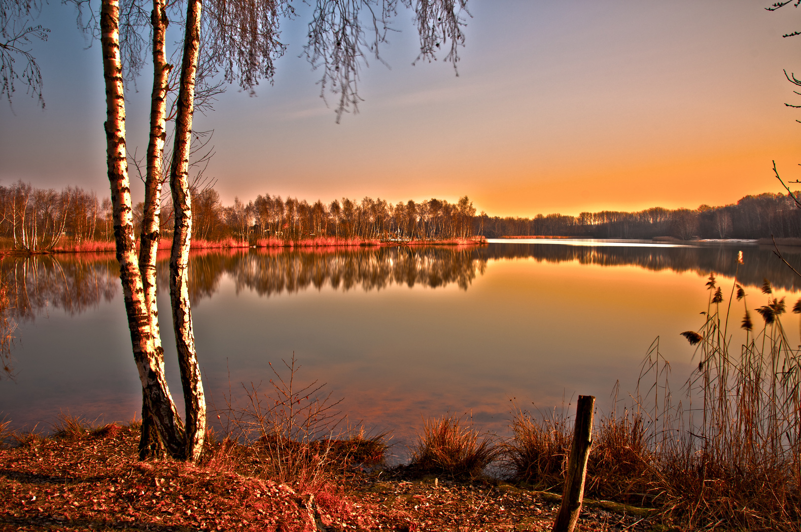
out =
<svg viewBox="0 0 801 532"><path fill-rule="evenodd" d="M489 434L473 428L473 419L463 425L465 416L446 414L426 419L423 434L418 436L411 467L423 473L444 473L453 478L474 478L494 462L501 447Z"/></svg>

